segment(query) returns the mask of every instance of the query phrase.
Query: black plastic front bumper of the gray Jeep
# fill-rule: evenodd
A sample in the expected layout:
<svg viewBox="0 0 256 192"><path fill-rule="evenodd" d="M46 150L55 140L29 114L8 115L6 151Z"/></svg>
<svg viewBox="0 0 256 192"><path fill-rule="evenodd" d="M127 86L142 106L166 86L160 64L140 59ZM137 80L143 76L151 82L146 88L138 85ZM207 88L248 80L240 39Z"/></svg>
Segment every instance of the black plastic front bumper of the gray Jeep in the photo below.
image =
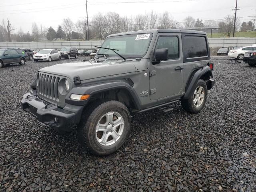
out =
<svg viewBox="0 0 256 192"><path fill-rule="evenodd" d="M59 108L30 93L23 95L21 107L38 121L64 131L70 131L74 125L78 124L84 108L84 106L72 105Z"/></svg>

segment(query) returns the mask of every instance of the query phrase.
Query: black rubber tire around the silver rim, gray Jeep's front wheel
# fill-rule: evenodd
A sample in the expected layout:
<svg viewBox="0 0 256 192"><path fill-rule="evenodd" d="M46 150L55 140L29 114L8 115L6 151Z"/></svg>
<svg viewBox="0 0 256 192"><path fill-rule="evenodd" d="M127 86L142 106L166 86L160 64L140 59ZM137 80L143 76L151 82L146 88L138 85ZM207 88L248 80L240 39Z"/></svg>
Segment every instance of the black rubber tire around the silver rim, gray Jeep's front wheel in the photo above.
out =
<svg viewBox="0 0 256 192"><path fill-rule="evenodd" d="M103 146L96 138L96 125L100 118L108 112L118 112L124 119L124 130L121 137L110 146ZM78 140L89 152L106 156L116 152L127 140L130 132L131 116L128 108L119 101L95 102L90 104L82 113L78 124Z"/></svg>

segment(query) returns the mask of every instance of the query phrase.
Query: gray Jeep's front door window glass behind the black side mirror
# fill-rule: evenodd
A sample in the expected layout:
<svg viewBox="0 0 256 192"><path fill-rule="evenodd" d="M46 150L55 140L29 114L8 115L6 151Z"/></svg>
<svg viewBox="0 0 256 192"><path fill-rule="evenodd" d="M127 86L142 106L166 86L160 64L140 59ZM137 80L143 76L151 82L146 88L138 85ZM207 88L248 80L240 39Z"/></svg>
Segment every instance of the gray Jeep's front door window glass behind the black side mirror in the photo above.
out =
<svg viewBox="0 0 256 192"><path fill-rule="evenodd" d="M176 36L160 36L156 43L156 49L168 49L168 60L179 58L179 40Z"/></svg>

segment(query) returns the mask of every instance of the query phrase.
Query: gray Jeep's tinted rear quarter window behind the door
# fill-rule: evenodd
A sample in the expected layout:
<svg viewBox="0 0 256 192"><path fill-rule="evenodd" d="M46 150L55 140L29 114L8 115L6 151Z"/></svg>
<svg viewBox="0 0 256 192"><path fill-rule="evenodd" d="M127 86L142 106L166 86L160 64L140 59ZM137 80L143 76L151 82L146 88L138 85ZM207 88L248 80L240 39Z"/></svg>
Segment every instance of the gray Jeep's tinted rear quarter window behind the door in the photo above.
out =
<svg viewBox="0 0 256 192"><path fill-rule="evenodd" d="M208 56L208 49L204 36L185 36L183 38L183 52L185 58Z"/></svg>

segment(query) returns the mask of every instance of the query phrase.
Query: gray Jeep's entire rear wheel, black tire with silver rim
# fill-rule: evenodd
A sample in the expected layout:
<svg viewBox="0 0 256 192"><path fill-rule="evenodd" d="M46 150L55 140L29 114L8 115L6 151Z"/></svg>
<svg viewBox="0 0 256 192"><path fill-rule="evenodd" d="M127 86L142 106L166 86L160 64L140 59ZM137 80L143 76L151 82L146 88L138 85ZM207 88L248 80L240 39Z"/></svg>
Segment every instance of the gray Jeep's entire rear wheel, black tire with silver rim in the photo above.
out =
<svg viewBox="0 0 256 192"><path fill-rule="evenodd" d="M205 105L207 98L207 86L204 80L199 79L194 91L188 99L181 99L182 108L190 113L199 113Z"/></svg>

